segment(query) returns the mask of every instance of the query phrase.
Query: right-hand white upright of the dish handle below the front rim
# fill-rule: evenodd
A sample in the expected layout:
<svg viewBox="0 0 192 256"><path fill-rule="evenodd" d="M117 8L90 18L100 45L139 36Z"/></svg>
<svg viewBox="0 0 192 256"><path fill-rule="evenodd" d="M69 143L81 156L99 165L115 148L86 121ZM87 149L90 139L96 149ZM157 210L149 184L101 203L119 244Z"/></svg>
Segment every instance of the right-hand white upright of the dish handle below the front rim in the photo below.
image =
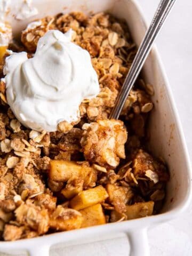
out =
<svg viewBox="0 0 192 256"><path fill-rule="evenodd" d="M149 256L147 229L126 233L130 242L130 256Z"/></svg>

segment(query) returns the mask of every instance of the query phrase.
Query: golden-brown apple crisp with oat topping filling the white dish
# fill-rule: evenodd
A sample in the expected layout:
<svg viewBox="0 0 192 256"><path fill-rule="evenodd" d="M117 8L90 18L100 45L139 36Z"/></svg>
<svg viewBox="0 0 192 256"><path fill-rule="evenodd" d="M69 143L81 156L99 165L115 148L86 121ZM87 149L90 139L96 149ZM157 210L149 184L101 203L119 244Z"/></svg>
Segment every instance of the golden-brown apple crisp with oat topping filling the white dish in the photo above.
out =
<svg viewBox="0 0 192 256"><path fill-rule="evenodd" d="M50 133L27 129L14 117L0 83L4 241L146 217L164 202L169 172L146 146L153 86L139 78L119 120L108 119L137 52L125 21L107 13L45 17L8 49L25 50L30 58L48 30L70 28L73 42L89 51L100 84L97 97L79 106L78 122L61 122ZM10 52L4 53L5 59Z"/></svg>

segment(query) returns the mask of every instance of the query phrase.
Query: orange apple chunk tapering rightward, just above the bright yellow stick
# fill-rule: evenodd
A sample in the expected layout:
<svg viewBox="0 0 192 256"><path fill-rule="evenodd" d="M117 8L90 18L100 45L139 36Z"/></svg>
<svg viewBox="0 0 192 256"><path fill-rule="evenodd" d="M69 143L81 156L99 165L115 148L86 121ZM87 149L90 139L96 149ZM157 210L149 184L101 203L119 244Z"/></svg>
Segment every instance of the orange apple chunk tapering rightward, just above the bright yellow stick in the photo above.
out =
<svg viewBox="0 0 192 256"><path fill-rule="evenodd" d="M92 171L91 167L72 161L51 160L49 177L51 180L67 181L73 177L84 177L90 171Z"/></svg>

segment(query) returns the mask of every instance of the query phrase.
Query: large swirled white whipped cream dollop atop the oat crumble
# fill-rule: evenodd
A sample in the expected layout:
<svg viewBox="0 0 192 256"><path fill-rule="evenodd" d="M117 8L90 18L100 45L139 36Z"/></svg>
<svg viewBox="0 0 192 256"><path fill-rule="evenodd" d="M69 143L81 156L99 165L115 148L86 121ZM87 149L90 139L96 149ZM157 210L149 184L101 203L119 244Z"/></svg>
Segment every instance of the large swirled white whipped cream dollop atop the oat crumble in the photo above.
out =
<svg viewBox="0 0 192 256"><path fill-rule="evenodd" d="M56 131L79 118L79 105L99 93L89 52L71 42L73 30L48 31L34 57L12 53L5 60L6 98L15 117L30 129Z"/></svg>

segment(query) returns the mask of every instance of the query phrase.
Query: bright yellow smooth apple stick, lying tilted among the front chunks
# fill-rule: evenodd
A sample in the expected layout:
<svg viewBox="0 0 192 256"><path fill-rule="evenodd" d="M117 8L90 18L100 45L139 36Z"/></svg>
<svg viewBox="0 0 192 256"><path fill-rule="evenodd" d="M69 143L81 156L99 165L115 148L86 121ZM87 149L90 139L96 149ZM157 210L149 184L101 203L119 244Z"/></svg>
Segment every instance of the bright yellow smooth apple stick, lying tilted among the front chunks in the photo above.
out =
<svg viewBox="0 0 192 256"><path fill-rule="evenodd" d="M71 208L82 210L94 204L101 203L108 197L107 191L101 185L82 191L70 201Z"/></svg>

